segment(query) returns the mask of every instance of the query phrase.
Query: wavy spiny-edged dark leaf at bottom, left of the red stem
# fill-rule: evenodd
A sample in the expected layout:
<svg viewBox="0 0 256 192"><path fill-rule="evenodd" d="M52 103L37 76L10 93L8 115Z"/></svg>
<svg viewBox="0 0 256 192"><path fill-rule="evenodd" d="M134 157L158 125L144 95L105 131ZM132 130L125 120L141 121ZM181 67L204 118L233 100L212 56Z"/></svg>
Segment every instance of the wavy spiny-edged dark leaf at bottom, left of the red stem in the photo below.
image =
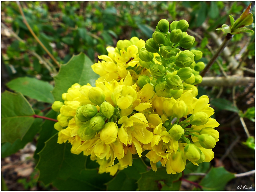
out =
<svg viewBox="0 0 256 192"><path fill-rule="evenodd" d="M138 180L139 190L159 190L158 182L164 181L168 187L173 187L173 181L178 180L182 176L181 173L167 174L166 167L157 168L157 171L147 171L141 174Z"/></svg>

